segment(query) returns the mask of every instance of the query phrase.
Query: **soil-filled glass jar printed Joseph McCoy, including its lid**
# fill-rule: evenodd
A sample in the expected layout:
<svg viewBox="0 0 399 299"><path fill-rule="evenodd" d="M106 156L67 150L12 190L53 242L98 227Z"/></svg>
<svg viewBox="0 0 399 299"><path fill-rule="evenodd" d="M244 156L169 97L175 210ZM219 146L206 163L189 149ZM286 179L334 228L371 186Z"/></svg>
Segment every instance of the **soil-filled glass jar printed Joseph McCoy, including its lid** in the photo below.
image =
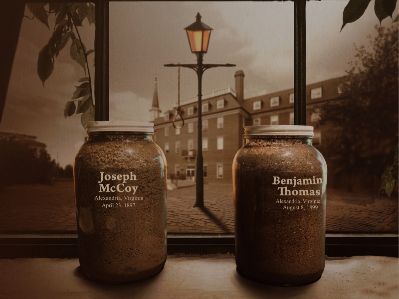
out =
<svg viewBox="0 0 399 299"><path fill-rule="evenodd" d="M104 283L153 277L167 258L166 158L154 124L86 128L73 166L80 267Z"/></svg>

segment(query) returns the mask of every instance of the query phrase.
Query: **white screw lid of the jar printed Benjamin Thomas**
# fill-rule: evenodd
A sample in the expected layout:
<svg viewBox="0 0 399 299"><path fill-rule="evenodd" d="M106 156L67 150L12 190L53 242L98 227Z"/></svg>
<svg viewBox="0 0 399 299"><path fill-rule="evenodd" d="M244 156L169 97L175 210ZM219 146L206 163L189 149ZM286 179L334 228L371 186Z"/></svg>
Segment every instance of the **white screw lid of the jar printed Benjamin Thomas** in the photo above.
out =
<svg viewBox="0 0 399 299"><path fill-rule="evenodd" d="M245 136L313 136L312 126L248 126Z"/></svg>

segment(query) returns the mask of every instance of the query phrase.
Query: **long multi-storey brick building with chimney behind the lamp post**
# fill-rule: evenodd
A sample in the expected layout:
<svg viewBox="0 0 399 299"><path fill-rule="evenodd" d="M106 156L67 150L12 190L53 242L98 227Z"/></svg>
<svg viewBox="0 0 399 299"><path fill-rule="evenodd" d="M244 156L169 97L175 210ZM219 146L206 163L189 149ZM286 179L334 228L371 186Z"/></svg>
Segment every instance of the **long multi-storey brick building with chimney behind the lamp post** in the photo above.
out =
<svg viewBox="0 0 399 299"><path fill-rule="evenodd" d="M294 89L244 99L244 72L235 72L235 91L228 87L202 96L202 156L204 183L232 183L232 161L244 145L244 127L252 125L294 124ZM313 145L323 154L323 137L331 128L319 124L318 108L342 99L342 78L309 84L306 88L307 125L314 127ZM195 180L197 156L198 98L181 103L185 125L175 129L176 110L161 116L155 89L152 114L155 142L163 149L168 162L168 176ZM178 118L179 119L179 118ZM175 122L180 127L182 121Z"/></svg>

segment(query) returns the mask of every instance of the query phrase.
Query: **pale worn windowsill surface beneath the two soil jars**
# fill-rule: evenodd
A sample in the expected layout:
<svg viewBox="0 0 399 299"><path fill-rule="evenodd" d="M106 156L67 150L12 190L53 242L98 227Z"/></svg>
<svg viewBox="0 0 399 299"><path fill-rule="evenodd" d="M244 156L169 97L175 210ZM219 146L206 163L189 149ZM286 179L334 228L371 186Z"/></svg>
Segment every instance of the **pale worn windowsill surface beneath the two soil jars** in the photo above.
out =
<svg viewBox="0 0 399 299"><path fill-rule="evenodd" d="M396 298L398 258L358 256L326 260L322 278L282 288L244 279L231 257L168 256L147 281L99 284L82 274L78 259L0 260L1 295L7 298Z"/></svg>

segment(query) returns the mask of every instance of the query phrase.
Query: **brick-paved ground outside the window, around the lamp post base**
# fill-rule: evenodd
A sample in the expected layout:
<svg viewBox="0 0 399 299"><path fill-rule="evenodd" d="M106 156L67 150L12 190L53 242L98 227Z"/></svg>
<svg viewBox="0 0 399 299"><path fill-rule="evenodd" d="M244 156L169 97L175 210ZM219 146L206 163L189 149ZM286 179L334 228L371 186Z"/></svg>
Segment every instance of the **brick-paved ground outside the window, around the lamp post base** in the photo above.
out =
<svg viewBox="0 0 399 299"><path fill-rule="evenodd" d="M205 208L193 208L196 186L168 190L169 233L234 233L231 185L204 185ZM399 200L327 189L326 230L399 232ZM22 185L0 193L0 231L76 231L73 181Z"/></svg>

